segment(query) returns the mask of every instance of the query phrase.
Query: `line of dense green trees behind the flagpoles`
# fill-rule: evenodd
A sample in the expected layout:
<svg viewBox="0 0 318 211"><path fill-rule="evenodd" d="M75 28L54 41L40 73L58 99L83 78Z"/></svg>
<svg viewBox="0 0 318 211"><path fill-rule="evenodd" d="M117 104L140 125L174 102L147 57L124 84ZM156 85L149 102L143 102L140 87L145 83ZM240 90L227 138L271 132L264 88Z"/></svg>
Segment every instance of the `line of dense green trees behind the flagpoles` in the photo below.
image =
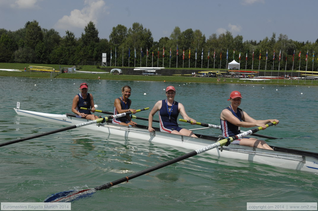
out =
<svg viewBox="0 0 318 211"><path fill-rule="evenodd" d="M308 71L317 71L317 45L318 39L314 43L294 41L283 34L276 37L274 32L272 37L259 41L243 41L243 36L233 37L230 31L206 38L200 30L181 31L178 26L170 37L154 41L151 31L140 23L133 23L129 29L118 24L109 39L99 37L93 22L85 26L79 38L71 31L61 37L59 32L43 29L33 20L17 31L0 29L0 62L101 65L102 53L107 53L107 66L224 69L234 59L241 69L306 70L307 66Z"/></svg>

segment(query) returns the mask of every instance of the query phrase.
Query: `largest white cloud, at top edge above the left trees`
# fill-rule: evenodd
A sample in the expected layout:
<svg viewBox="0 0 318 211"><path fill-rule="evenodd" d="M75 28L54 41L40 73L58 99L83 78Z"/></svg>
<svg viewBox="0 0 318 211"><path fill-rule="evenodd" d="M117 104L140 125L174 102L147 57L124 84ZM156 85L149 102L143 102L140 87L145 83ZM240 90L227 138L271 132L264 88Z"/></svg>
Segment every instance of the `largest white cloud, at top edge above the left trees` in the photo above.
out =
<svg viewBox="0 0 318 211"><path fill-rule="evenodd" d="M75 9L71 11L69 16L63 16L54 27L64 30L83 29L90 21L96 25L98 16L107 9L103 0L85 0L84 5L82 10Z"/></svg>

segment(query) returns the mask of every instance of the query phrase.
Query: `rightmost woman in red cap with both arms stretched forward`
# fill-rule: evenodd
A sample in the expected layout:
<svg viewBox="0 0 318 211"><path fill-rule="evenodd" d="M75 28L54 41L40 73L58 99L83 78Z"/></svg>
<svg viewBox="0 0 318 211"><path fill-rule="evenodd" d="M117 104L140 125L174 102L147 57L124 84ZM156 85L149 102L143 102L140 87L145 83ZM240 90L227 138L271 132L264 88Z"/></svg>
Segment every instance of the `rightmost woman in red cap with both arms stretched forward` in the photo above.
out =
<svg viewBox="0 0 318 211"><path fill-rule="evenodd" d="M242 95L239 91L233 91L230 95L231 105L221 112L221 128L223 137L232 137L240 132L239 127L262 127L266 129L265 124L270 122L277 122L277 119L255 120L250 117L246 112L239 108L241 104ZM243 139L237 139L232 144L239 144L244 146L252 146L262 149L273 150L266 144L264 140L258 140L255 138L244 137Z"/></svg>

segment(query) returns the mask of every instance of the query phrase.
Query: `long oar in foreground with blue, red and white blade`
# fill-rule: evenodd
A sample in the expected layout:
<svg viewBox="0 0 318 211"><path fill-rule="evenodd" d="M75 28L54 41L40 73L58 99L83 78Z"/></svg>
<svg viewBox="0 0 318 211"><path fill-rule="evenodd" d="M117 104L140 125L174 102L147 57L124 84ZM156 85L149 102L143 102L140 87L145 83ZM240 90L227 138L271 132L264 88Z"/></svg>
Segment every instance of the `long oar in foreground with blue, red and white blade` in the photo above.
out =
<svg viewBox="0 0 318 211"><path fill-rule="evenodd" d="M271 123L268 123L266 125L266 127L269 127L269 126L272 126L272 125L275 125L275 124L276 124L276 122L271 122ZM144 170L139 171L139 172L137 172L135 174L131 174L131 175L123 177L123 178L121 178L119 180L115 180L113 182L109 182L107 184L104 184L104 185L101 185L101 186L98 186L98 187L95 187L95 188L89 188L89 189L83 189L83 190L73 190L73 191L64 191L64 192L59 192L57 194L52 194L52 195L48 196L48 198L46 198L44 200L44 202L66 202L66 201L78 200L79 198L90 196L90 195L94 194L98 190L107 189L107 188L110 188L110 187L112 187L114 185L118 185L118 184L120 184L122 182L128 182L128 180L134 179L134 178L142 176L144 174L148 174L148 173L150 173L152 171L155 171L155 170L157 170L159 168L162 168L162 167L165 167L165 166L169 166L169 165L171 165L173 163L176 163L176 162L179 162L181 160L190 158L190 157L192 157L194 155L206 152L206 151L211 150L213 148L216 148L218 146L223 146L223 145L227 146L228 144L230 144L230 142L232 142L232 141L234 141L236 139L241 139L241 138L243 138L245 136L251 135L252 133L256 133L257 131L259 131L261 129L263 129L263 128L262 127L256 127L256 128L254 128L252 130L246 131L244 133L240 133L238 135L229 137L227 139L219 140L218 142L215 142L214 144L211 144L209 146L205 146L205 147L203 147L201 149L192 151L192 152L184 154L184 155L182 155L180 157L174 158L172 160L168 160L168 161L163 162L161 164L158 164L156 166L144 169Z"/></svg>

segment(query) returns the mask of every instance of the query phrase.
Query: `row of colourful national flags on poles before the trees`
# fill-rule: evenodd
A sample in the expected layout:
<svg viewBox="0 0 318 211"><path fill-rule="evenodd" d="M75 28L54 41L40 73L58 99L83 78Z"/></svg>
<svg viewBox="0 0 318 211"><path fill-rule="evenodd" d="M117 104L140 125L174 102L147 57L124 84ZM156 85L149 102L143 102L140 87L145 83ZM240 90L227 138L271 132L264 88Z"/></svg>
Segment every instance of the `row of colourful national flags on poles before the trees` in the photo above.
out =
<svg viewBox="0 0 318 211"><path fill-rule="evenodd" d="M142 51L142 48L140 48L140 52L141 52L141 56L144 57L144 54L143 54L143 51ZM170 58L171 58L171 48L170 48ZM176 49L176 55L179 55L179 48L178 48L178 45L177 45L177 49ZM228 55L229 55L229 50L227 49L226 51L226 59L228 59ZM234 59L234 55L235 55L235 49L233 50L233 59ZM148 48L147 48L147 57L149 56L149 51L148 51ZM214 49L214 53L213 53L213 58L215 59L215 56L216 56L216 53L215 53L215 49ZM294 50L294 53L293 53L293 61L294 61L294 56L295 56L295 50ZM116 57L116 51L115 51L115 57ZM128 48L128 57L130 58L130 47ZM154 57L154 52L152 51L152 57ZM158 58L160 57L160 52L159 52L159 47L158 47ZM164 47L163 47L163 51L162 51L162 57L164 57ZM301 51L299 52L298 54L298 57L299 57L299 60L301 59ZM315 51L313 52L313 59L312 61L314 62L314 57L315 57ZM112 59L112 49L110 49L110 58ZM135 48L135 58L137 58L137 55L136 55L136 48ZM184 48L183 48L183 54L182 54L182 59L184 60ZM191 58L191 49L189 49L189 59ZM268 58L268 51L266 50L266 60ZM197 59L197 48L196 48L196 53L195 53L195 59ZM202 48L202 53L201 53L201 59L203 59L203 48ZM208 59L210 59L210 49L209 49L209 52L208 52ZM220 52L220 59L222 60L222 51ZM245 59L247 61L247 51L246 51L246 56L245 56ZM259 50L259 60L261 59L261 50ZM307 54L306 54L306 59L305 61L307 61L308 59L308 51L307 51ZM239 60L241 60L241 52L239 52ZM253 53L252 53L252 60L254 60L254 50L253 50ZM274 50L274 53L273 53L273 60L275 60L275 50ZM281 60L281 50L279 52L279 58L278 60L280 61ZM318 60L318 58L317 58ZM286 56L286 61L287 61L287 56Z"/></svg>

